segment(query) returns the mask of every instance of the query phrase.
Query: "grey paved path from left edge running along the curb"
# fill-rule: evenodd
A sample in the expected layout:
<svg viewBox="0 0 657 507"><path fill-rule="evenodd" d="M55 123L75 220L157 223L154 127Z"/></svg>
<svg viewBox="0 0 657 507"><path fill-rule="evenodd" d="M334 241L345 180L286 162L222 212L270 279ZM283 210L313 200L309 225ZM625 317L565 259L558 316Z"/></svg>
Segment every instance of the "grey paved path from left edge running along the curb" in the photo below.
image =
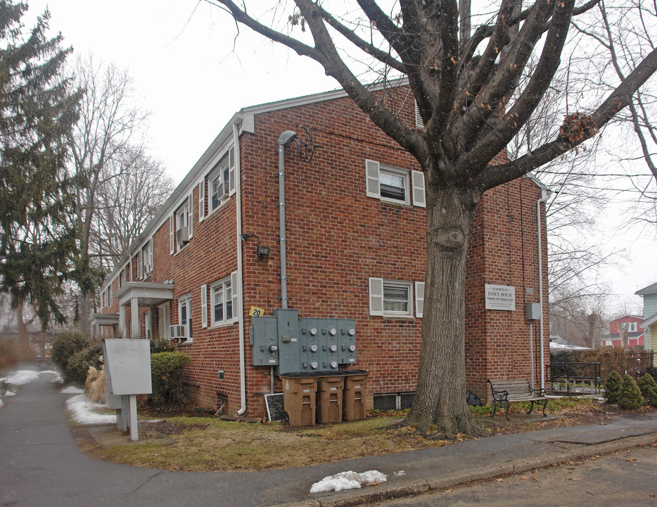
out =
<svg viewBox="0 0 657 507"><path fill-rule="evenodd" d="M657 441L657 414L651 413L304 468L169 472L106 463L79 451L64 413L68 395L46 377L21 387L0 408L0 506L367 505ZM378 470L388 481L310 494L314 482L346 470Z"/></svg>

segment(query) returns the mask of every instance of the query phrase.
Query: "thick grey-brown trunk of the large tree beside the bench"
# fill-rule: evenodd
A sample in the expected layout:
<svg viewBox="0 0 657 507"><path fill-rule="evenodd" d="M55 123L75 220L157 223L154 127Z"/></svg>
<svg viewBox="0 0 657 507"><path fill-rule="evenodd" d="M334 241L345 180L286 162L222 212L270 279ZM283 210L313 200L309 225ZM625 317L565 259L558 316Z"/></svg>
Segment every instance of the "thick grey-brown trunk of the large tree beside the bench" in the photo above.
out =
<svg viewBox="0 0 657 507"><path fill-rule="evenodd" d="M435 174L435 173L434 173ZM430 180L430 177L427 178ZM418 389L406 423L454 438L483 434L466 402L468 234L479 194L427 185L427 259Z"/></svg>

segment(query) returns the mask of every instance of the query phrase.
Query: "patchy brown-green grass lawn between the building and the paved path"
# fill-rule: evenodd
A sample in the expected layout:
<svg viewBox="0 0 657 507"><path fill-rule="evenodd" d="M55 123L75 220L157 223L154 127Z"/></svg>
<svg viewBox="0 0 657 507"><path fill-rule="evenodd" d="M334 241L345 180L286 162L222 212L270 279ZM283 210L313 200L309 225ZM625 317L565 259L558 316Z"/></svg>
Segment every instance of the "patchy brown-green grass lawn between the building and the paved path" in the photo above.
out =
<svg viewBox="0 0 657 507"><path fill-rule="evenodd" d="M551 418L542 418L540 412L526 415L527 408L523 403L513 403L510 421L499 413L492 420L490 406L472 410L490 435L602 423L619 413L616 406L585 398L551 399L547 413L556 416ZM76 435L82 449L97 458L128 465L196 471L292 468L451 443L434 439L431 434L420 434L414 427L398 425L403 417L404 412L369 413L366 420L351 423L289 427L281 423L223 421L212 415L194 416L192 412L140 424L150 427L154 434L161 434L162 443L155 438L151 443L104 446L94 443L82 427L77 427Z"/></svg>

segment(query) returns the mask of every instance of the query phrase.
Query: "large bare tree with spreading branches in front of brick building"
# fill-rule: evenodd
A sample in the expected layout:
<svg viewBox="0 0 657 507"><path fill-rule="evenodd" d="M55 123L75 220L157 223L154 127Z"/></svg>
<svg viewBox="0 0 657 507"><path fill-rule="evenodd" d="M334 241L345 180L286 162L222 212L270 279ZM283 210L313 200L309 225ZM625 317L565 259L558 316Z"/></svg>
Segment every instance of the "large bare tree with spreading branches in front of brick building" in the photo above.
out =
<svg viewBox="0 0 657 507"><path fill-rule="evenodd" d="M592 111L570 111L551 139L508 163L489 165L549 89L571 21L596 3L536 0L521 8L519 0L499 0L482 5L481 13L463 6L459 23L456 0L399 0L387 11L374 0L272 1L264 12L247 1L212 2L238 23L319 62L424 172L425 313L417 391L407 415L407 423L421 430L435 424L445 437L481 432L464 396L466 251L481 194L594 136L657 69L653 50ZM520 88L532 55L537 63ZM363 68L359 63L381 76L407 77L423 130L386 106L365 82L371 73L356 70Z"/></svg>

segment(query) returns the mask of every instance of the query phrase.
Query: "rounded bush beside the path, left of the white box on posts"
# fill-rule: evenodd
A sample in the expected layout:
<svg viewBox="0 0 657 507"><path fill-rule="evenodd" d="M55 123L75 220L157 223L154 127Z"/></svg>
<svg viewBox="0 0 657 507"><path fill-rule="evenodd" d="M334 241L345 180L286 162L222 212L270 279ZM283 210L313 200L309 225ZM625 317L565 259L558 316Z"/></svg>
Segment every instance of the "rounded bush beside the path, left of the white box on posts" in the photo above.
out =
<svg viewBox="0 0 657 507"><path fill-rule="evenodd" d="M88 351L85 351L89 349ZM100 350L100 352L98 352ZM66 382L84 384L89 366L99 368L102 355L99 339L85 334L63 333L53 343L51 356L53 363L59 366Z"/></svg>

